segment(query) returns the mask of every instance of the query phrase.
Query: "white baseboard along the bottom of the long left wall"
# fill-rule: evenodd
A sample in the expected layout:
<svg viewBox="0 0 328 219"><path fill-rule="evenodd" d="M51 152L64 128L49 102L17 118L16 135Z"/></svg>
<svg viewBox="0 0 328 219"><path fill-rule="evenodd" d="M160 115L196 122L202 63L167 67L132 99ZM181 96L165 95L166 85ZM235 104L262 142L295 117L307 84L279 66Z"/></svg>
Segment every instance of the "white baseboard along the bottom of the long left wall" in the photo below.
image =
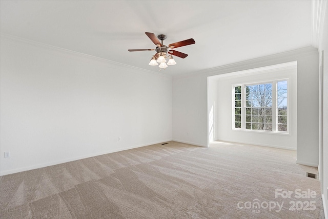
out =
<svg viewBox="0 0 328 219"><path fill-rule="evenodd" d="M93 157L93 156L99 156L99 155L114 153L114 152L118 152L118 151L125 151L125 150L129 150L129 149L133 149L133 148L145 147L145 146L148 146L148 145L156 145L156 144L159 144L159 143L170 142L170 141L172 141L172 139L166 140L166 141L160 141L160 142L151 142L151 143L147 143L147 144L135 145L135 146L127 147L127 148L108 150L108 151L104 151L104 152L88 154L88 155L85 155L85 156L73 157L73 158L69 158L69 159L66 159L66 160L60 160L60 161L55 161L55 162L49 162L49 163L44 163L44 164L37 164L37 165L32 165L32 166L27 166L27 167L22 167L22 168L17 168L17 169L1 171L0 176L13 174L13 173L18 173L18 172L23 172L23 171L28 171L28 170L34 170L34 169L43 168L43 167L49 167L49 166L57 165L57 164L64 164L64 163L67 163L67 162L77 161L77 160L81 160L81 159L89 158L89 157Z"/></svg>

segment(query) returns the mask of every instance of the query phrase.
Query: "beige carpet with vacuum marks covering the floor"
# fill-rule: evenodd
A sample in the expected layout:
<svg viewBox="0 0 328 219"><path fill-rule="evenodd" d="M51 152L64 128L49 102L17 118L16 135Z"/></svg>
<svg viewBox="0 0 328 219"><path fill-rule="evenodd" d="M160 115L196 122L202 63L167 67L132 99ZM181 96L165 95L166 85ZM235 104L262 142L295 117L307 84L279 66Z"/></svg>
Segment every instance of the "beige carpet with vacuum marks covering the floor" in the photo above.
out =
<svg viewBox="0 0 328 219"><path fill-rule="evenodd" d="M2 176L0 217L324 218L319 181L305 176L318 170L295 158L229 143L151 145Z"/></svg>

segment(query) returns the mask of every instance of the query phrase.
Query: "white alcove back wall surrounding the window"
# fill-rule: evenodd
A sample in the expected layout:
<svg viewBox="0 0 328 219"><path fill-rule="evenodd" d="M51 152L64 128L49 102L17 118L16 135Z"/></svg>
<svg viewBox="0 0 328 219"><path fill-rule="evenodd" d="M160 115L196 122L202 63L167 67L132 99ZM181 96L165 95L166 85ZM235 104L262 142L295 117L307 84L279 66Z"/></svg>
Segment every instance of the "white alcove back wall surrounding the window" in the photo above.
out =
<svg viewBox="0 0 328 219"><path fill-rule="evenodd" d="M210 81L216 82L214 86L217 86L216 92L218 93L218 107L215 113L218 116L216 125L217 140L296 150L297 63L293 62L287 65L289 66L276 65L270 67L270 69L259 68L209 77ZM233 130L232 86L235 84L261 83L282 78L289 79L289 134Z"/></svg>

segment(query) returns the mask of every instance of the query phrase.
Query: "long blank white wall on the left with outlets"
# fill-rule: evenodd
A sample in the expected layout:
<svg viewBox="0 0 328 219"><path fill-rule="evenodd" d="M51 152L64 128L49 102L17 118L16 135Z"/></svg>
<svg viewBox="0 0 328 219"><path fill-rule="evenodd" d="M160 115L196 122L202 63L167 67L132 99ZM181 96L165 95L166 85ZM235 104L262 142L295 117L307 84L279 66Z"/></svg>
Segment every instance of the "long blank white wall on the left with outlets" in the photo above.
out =
<svg viewBox="0 0 328 219"><path fill-rule="evenodd" d="M0 60L1 175L172 140L170 76L5 35Z"/></svg>

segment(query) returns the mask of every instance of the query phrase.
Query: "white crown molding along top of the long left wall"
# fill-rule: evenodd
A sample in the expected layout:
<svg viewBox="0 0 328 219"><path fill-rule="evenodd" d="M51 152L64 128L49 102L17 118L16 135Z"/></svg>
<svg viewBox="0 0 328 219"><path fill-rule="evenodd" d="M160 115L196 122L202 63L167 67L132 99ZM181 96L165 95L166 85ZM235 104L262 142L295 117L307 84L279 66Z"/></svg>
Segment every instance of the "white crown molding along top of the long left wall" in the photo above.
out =
<svg viewBox="0 0 328 219"><path fill-rule="evenodd" d="M96 61L96 62L100 62L100 63L109 64L109 65L112 65L112 66L118 66L118 67L121 67L121 68L128 68L128 69L140 71L140 72L143 72L143 73L155 74L155 75L158 75L158 76L172 78L172 75L168 75L168 74L164 74L164 73L160 73L160 72L154 72L154 71L150 71L150 70L147 70L147 69L142 69L142 68L138 68L138 67L118 63L118 62L111 61L111 60L106 59L106 58L100 58L100 57L97 57L97 56L88 55L88 54L85 54L85 53L80 53L80 52L76 52L76 51L73 51L73 50L64 49L64 48L52 46L52 45L49 45L49 44L44 44L44 43L32 41L30 39L9 35L9 34L6 34L6 33L0 33L0 39L7 39L7 40L10 40L10 41L13 41L13 42L20 42L20 43L32 45L32 46L35 46L35 47L40 47L40 48L52 50L54 52L58 52L59 54L66 54L66 55L70 55L70 56L86 58L89 61L93 61L93 62Z"/></svg>

